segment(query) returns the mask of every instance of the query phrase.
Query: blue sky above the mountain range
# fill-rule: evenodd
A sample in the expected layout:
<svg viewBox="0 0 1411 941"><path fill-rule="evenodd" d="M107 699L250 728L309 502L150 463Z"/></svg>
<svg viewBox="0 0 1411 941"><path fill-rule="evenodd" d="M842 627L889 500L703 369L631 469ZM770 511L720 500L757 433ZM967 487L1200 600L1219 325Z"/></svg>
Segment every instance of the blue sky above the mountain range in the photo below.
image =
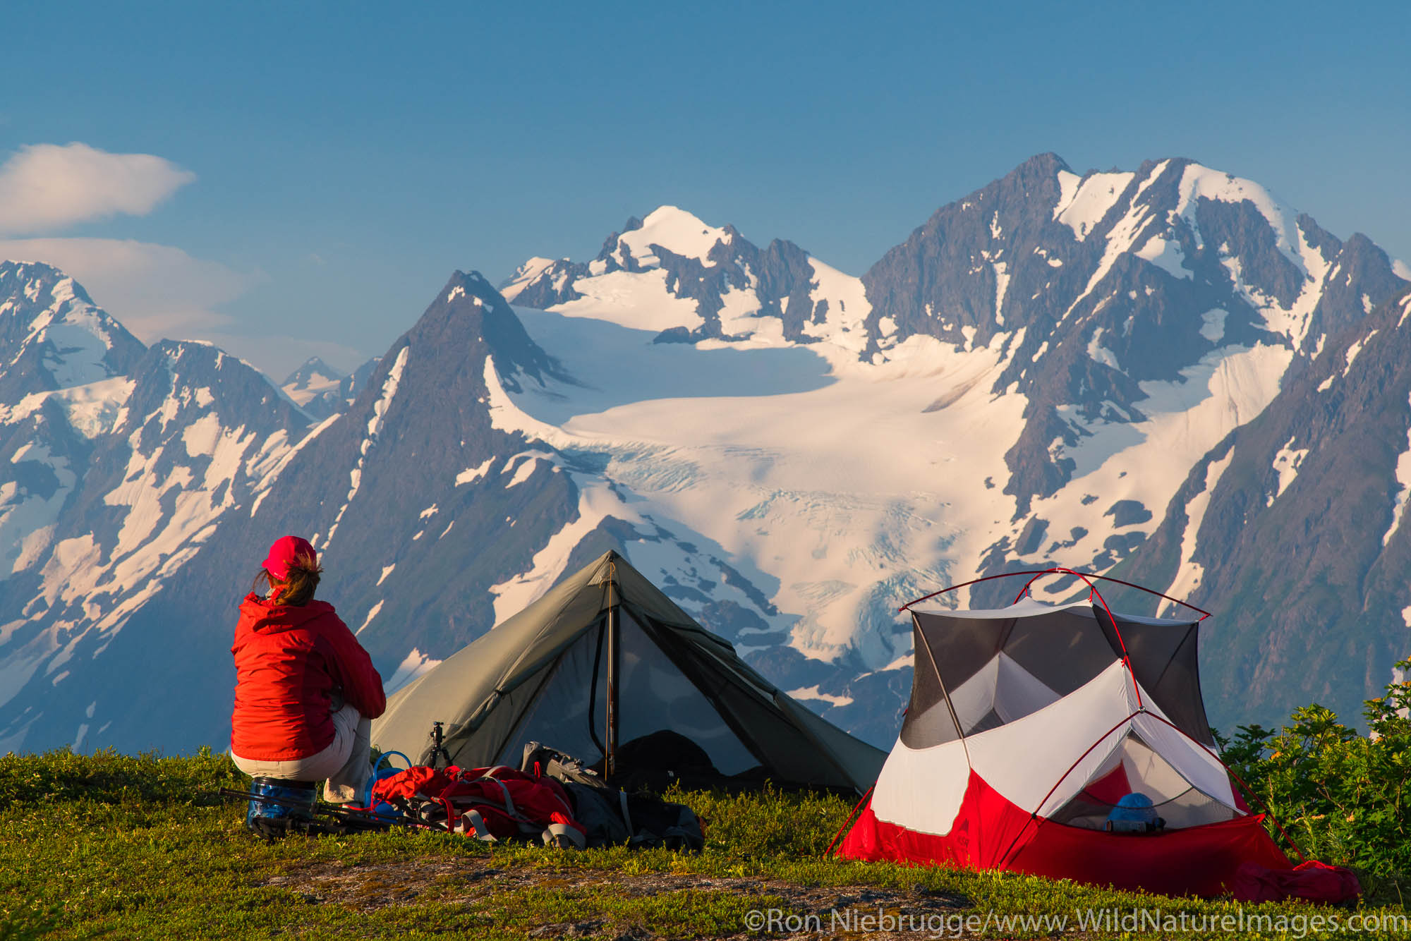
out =
<svg viewBox="0 0 1411 941"><path fill-rule="evenodd" d="M281 380L662 203L862 274L1043 151L1192 157L1411 262L1408 32L1403 3L11 7L0 176L161 162L68 213L0 185L0 254Z"/></svg>

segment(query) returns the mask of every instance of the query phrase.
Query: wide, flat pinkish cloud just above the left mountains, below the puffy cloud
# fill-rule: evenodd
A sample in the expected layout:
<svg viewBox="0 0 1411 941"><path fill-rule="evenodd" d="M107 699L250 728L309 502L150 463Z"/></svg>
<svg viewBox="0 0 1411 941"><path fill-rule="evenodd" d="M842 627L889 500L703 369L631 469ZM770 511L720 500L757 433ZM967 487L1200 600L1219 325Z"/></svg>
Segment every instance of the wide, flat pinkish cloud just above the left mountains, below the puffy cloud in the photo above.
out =
<svg viewBox="0 0 1411 941"><path fill-rule="evenodd" d="M260 281L181 248L119 238L0 240L0 258L61 268L144 343L210 339L233 323L216 308Z"/></svg>

